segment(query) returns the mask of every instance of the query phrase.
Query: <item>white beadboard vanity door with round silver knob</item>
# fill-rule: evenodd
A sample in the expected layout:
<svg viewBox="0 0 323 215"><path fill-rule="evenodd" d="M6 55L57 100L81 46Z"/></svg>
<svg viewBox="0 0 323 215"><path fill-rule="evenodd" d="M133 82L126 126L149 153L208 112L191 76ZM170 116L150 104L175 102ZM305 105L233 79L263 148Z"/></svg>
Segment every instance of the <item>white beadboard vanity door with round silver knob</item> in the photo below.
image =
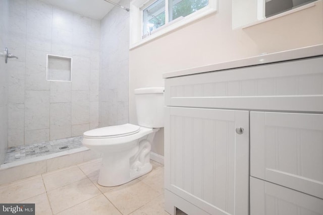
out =
<svg viewBox="0 0 323 215"><path fill-rule="evenodd" d="M165 188L209 214L247 215L249 112L165 112Z"/></svg>

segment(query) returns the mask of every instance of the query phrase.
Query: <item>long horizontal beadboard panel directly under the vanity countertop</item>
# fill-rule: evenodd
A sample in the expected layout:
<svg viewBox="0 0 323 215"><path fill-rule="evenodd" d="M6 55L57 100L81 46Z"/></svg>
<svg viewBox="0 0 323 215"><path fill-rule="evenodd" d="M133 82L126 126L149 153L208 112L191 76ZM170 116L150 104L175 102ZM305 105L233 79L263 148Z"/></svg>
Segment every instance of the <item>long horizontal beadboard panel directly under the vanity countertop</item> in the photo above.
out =
<svg viewBox="0 0 323 215"><path fill-rule="evenodd" d="M323 111L323 57L214 71L165 81L167 106Z"/></svg>

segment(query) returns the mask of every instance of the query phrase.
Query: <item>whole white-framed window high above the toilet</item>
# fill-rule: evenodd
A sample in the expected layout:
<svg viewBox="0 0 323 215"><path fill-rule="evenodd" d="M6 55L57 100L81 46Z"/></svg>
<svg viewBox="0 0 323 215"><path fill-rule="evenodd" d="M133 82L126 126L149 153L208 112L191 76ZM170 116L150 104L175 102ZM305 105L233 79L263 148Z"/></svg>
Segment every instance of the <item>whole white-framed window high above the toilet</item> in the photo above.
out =
<svg viewBox="0 0 323 215"><path fill-rule="evenodd" d="M130 48L216 12L216 1L133 0L130 3Z"/></svg>

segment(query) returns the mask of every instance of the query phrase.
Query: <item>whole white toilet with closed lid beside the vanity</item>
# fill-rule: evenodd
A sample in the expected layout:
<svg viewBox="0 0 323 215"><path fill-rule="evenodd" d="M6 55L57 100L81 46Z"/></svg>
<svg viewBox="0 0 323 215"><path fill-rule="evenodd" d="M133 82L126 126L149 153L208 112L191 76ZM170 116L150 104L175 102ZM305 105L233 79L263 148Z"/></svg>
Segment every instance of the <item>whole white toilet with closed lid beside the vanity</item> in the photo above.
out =
<svg viewBox="0 0 323 215"><path fill-rule="evenodd" d="M82 144L102 154L98 184L117 186L151 171L155 132L164 127L164 88L135 90L139 125L124 124L84 132Z"/></svg>

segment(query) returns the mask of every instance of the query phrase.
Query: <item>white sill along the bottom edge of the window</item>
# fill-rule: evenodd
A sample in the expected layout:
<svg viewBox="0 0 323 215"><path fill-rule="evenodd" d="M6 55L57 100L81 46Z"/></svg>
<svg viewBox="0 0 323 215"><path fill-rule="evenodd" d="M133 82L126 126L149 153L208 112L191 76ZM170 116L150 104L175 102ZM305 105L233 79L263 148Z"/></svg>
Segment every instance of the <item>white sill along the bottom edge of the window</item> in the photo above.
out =
<svg viewBox="0 0 323 215"><path fill-rule="evenodd" d="M156 29L155 32L153 32L151 35L143 38L143 39L140 39L139 41L137 42L134 42L132 44L130 44L130 47L129 49L134 49L140 45L143 45L149 41L152 41L156 38L159 38L169 32L172 32L172 31L175 31L176 29L182 27L182 26L185 26L185 25L188 25L189 23L193 22L193 21L196 21L198 19L201 19L209 14L212 14L212 13L215 13L217 11L217 7L205 7L205 8L202 8L200 10L198 10L197 12L193 13L193 14L190 14L184 18L182 18L181 20L179 21L176 21L174 20L174 22L170 22L169 25L166 25L165 27L161 28L160 30Z"/></svg>

